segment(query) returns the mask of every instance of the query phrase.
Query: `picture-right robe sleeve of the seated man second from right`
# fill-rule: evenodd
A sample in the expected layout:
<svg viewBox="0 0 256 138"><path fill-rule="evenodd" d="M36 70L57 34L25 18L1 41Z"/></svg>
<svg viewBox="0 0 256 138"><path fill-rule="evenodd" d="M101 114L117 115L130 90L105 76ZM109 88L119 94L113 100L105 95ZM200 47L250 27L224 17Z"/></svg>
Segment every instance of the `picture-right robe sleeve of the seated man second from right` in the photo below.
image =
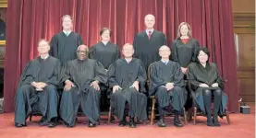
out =
<svg viewBox="0 0 256 138"><path fill-rule="evenodd" d="M175 75L174 75L174 82L171 82L171 83L174 83L174 86L184 86L184 75L183 73L181 72L181 69L180 69L180 66L178 63L175 63L175 68L176 68L176 71L175 71Z"/></svg>

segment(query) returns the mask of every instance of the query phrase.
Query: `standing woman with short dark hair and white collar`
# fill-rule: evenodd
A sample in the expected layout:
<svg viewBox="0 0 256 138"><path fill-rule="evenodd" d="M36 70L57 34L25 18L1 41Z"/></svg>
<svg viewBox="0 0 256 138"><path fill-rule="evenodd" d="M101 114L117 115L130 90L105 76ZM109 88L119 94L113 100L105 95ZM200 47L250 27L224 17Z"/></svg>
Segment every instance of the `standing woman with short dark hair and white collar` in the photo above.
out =
<svg viewBox="0 0 256 138"><path fill-rule="evenodd" d="M91 46L89 58L103 63L104 68L108 70L110 64L120 58L120 52L118 46L110 42L110 29L101 29L100 36L102 40Z"/></svg>

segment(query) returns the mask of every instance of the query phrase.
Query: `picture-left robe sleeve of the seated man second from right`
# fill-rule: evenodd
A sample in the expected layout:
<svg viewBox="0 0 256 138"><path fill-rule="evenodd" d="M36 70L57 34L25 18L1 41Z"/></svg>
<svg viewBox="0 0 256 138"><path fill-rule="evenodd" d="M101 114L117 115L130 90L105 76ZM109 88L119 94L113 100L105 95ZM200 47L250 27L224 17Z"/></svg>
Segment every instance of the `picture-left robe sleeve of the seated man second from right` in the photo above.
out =
<svg viewBox="0 0 256 138"><path fill-rule="evenodd" d="M150 65L150 84L151 84L151 89L155 89L156 87L158 86L165 86L168 82L167 81L164 81L163 79L159 78L157 76L157 72L158 72L158 69L156 67L156 63L152 63Z"/></svg>

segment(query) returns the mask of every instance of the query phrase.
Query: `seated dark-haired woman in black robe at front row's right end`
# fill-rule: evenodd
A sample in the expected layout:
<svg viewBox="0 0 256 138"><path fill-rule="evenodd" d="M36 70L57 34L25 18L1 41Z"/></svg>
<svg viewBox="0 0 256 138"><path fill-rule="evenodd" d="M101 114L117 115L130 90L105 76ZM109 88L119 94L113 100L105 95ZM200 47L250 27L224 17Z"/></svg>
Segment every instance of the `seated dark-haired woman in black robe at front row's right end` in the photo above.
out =
<svg viewBox="0 0 256 138"><path fill-rule="evenodd" d="M188 78L192 88L192 97L197 106L207 116L208 126L220 126L218 115L222 117L226 107L226 95L223 92L223 81L218 75L215 63L209 63L210 52L201 47L196 52L196 63L191 63ZM211 101L213 96L213 118Z"/></svg>

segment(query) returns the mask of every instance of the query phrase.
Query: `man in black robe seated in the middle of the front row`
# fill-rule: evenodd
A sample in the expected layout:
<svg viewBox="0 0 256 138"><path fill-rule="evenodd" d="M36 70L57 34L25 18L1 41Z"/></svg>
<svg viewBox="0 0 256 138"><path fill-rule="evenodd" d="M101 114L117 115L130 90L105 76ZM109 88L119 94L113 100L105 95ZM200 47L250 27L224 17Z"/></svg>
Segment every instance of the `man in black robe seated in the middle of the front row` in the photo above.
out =
<svg viewBox="0 0 256 138"><path fill-rule="evenodd" d="M122 52L125 58L118 59L108 71L108 83L113 88L111 106L119 120L119 126L125 126L127 121L124 111L128 102L129 127L134 128L134 118L140 121L147 119L147 98L140 93L144 89L146 72L140 59L132 58L132 45L125 44Z"/></svg>

